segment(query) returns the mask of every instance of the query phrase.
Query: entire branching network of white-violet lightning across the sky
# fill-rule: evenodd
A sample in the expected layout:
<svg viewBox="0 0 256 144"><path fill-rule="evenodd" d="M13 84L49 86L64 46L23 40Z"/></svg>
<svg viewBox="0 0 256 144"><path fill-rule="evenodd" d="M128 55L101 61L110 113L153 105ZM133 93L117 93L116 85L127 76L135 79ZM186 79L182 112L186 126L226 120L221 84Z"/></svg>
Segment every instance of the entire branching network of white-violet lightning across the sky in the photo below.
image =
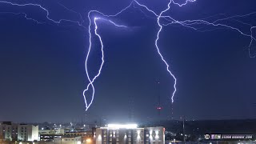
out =
<svg viewBox="0 0 256 144"><path fill-rule="evenodd" d="M118 25L116 22L112 21L111 18L114 18L114 17L118 16L119 14L122 14L124 11L128 10L131 6L133 6L134 8L138 8L146 16L147 16L146 13L153 14L153 17L149 17L149 16L147 16L147 17L155 18L156 21L158 22L158 33L156 34L156 39L155 39L154 44L155 44L155 48L157 49L158 55L160 56L162 62L164 62L166 64L167 72L170 74L170 76L172 78L174 78L174 91L170 96L170 100L172 103L174 102L174 95L177 91L177 88L176 88L177 78L175 78L174 74L171 72L170 65L166 62L166 59L162 56L162 53L160 52L160 49L158 46L160 34L161 34L164 26L182 26L184 28L192 29L197 32L210 32L212 30L218 30L218 29L234 30L234 31L238 32L238 34L241 34L242 36L250 38L250 44L248 46L249 56L250 56L250 58L256 57L256 54L251 53L252 44L253 44L253 42L256 42L256 38L254 37L254 29L256 29L256 26L253 26L252 24L243 22L241 20L241 18L247 18L249 16L256 14L256 12L252 12L250 14L243 14L243 15L234 15L234 16L230 16L230 17L226 17L226 14L215 14L214 16L210 16L207 18L192 19L192 20L186 19L184 21L178 21L169 15L164 15L166 13L166 11L170 10L170 6L182 7L182 6L186 6L189 2L196 2L196 0L186 0L186 2L184 2L184 3L178 3L178 2L175 2L174 0L170 0L170 2L168 2L168 4L167 4L167 8L165 10L162 10L160 12L160 14L157 14L154 10L150 10L149 7L139 3L136 0L133 0L132 2L130 2L129 6L126 6L124 9L120 10L118 13L112 14L112 15L103 14L102 12L100 12L98 10L90 10L87 14L87 18L89 20L89 26L88 26L88 28L86 28L86 26L84 26L85 21L82 18L82 14L79 14L78 12L76 12L74 10L70 10L66 6L63 6L61 3L58 3L58 4L62 7L64 7L66 10L69 10L72 13L79 14L80 21L74 21L74 20L70 20L70 19L54 20L53 18L50 18L49 10L47 10L45 7L43 7L42 5L39 5L39 4L34 4L34 3L18 4L18 3L14 3L14 2L6 2L6 1L0 0L0 3L6 4L6 5L11 5L11 6L36 6L39 9L46 12L46 18L49 22L53 22L57 25L60 24L61 22L72 22L72 23L77 24L77 26L81 26L83 29L88 30L89 48L88 48L88 52L86 54L85 67L86 67L86 77L89 81L89 84L86 86L86 90L83 91L83 97L84 97L84 101L86 103L86 110L89 109L89 107L91 106L91 104L94 101L94 94L95 94L94 81L100 76L100 74L102 72L102 67L104 65L104 50L103 50L104 45L103 45L102 38L101 38L100 34L98 34L97 22L98 21L109 22L110 24L117 26L119 28L128 28L128 26ZM38 24L46 23L46 22L39 22L38 20L36 20L34 18L29 18L27 16L27 14L25 14L25 13L13 13L13 12L0 12L0 13L1 14L22 14L22 15L24 15L24 18L26 18L27 20L32 20L34 22L37 22ZM94 16L93 14L97 15L97 16ZM207 19L216 18L219 16L222 16L224 18L217 18L217 20L215 20L213 22L210 22L210 20L207 20ZM246 30L244 30L242 28L224 24L224 22L227 22L227 21L238 22L238 23L242 24L242 26L247 26L247 29L249 29L250 32L248 33L248 32L246 32ZM98 37L98 39L101 43L101 50L102 50L102 58L101 58L102 63L99 66L98 73L95 74L94 76L91 76L89 74L89 69L88 69L88 60L89 60L89 56L90 56L90 51L92 49L92 31L94 31L94 35ZM88 98L86 98L86 95L90 88L92 90L92 94L90 95L91 99L88 100Z"/></svg>

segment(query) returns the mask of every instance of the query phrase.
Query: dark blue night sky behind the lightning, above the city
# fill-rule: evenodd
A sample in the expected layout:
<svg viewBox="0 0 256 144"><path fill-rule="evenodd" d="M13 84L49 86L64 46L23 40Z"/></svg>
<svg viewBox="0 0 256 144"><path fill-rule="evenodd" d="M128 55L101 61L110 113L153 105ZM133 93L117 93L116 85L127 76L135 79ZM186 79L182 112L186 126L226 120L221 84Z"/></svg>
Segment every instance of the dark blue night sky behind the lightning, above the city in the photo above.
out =
<svg viewBox="0 0 256 144"><path fill-rule="evenodd" d="M49 17L54 20L81 20L78 14L58 4L61 3L81 13L86 27L89 10L115 14L130 4L130 0L11 2L39 3L50 11ZM158 14L168 3L166 0L138 2ZM88 30L72 22L59 25L49 22L46 12L35 6L0 3L0 11L0 121L70 122L103 117L107 122L129 122L130 112L134 113L134 122L170 118L174 79L154 47L158 25L146 10L148 15L131 7L111 19L128 28L98 22L106 62L94 82L94 103L87 112L82 91L88 84L84 63L89 46ZM255 0L198 0L183 7L172 6L166 14L182 21L254 11ZM46 23L37 24L22 14L6 12L26 13ZM256 14L242 20L256 26L255 18ZM226 23L241 26L241 23ZM246 26L242 30L250 32ZM90 74L96 74L101 60L100 43L95 36L92 40L89 69ZM178 79L172 117L256 118L256 59L248 54L249 44L250 38L234 30L200 33L182 26L165 26L159 47ZM256 44L253 45L255 50ZM163 107L160 117L156 110L158 95Z"/></svg>

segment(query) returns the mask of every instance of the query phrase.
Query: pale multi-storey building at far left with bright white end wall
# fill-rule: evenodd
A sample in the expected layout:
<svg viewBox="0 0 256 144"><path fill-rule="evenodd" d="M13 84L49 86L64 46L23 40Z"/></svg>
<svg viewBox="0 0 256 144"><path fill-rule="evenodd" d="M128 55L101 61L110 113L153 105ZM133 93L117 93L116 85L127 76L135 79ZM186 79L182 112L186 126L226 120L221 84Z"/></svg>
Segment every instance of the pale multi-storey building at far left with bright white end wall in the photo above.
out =
<svg viewBox="0 0 256 144"><path fill-rule="evenodd" d="M32 142L38 140L38 125L0 123L0 138L4 141Z"/></svg>

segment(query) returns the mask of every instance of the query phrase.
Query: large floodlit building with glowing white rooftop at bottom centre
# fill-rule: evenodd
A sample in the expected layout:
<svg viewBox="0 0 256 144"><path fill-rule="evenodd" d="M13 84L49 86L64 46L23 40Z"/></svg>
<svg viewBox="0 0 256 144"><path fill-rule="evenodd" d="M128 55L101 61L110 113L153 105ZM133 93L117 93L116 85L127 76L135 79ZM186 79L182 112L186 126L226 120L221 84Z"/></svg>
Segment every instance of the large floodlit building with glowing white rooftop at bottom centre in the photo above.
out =
<svg viewBox="0 0 256 144"><path fill-rule="evenodd" d="M94 142L96 144L164 144L165 128L110 124L96 129Z"/></svg>

